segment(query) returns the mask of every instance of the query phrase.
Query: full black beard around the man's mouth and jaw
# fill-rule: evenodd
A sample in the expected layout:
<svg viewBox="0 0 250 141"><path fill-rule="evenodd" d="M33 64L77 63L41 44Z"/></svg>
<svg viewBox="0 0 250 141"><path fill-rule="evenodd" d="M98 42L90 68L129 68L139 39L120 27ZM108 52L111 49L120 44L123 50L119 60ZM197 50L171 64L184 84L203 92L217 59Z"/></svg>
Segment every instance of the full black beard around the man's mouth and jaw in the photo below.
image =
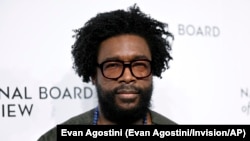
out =
<svg viewBox="0 0 250 141"><path fill-rule="evenodd" d="M123 109L116 104L115 96L119 90L129 89L138 92L139 102L130 109ZM101 85L96 84L98 101L105 118L117 124L133 124L146 116L151 106L153 85L145 89L131 85L121 85L113 90L104 90Z"/></svg>

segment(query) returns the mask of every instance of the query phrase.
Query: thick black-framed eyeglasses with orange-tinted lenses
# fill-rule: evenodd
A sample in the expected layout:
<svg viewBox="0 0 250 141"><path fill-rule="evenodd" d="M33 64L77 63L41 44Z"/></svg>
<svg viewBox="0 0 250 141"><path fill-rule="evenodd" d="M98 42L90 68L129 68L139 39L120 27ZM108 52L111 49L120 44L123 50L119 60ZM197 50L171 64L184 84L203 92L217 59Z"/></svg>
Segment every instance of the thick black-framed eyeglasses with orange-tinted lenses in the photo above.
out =
<svg viewBox="0 0 250 141"><path fill-rule="evenodd" d="M151 74L151 61L144 60L134 60L130 62L124 61L104 61L101 64L97 64L101 69L102 75L108 79L118 79L120 78L126 67L129 68L131 74L137 79L146 78Z"/></svg>

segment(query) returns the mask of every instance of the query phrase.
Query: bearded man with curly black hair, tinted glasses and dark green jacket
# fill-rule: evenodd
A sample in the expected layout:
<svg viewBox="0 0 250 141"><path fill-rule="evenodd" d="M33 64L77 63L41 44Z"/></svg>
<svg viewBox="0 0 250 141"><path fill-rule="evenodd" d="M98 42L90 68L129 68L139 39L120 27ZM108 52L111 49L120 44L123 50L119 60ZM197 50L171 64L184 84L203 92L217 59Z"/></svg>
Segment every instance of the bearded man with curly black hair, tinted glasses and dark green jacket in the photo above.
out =
<svg viewBox="0 0 250 141"><path fill-rule="evenodd" d="M176 124L150 110L153 76L161 78L172 59L166 24L134 5L100 13L75 32L74 69L96 86L98 106L62 124ZM56 127L39 141L55 138Z"/></svg>

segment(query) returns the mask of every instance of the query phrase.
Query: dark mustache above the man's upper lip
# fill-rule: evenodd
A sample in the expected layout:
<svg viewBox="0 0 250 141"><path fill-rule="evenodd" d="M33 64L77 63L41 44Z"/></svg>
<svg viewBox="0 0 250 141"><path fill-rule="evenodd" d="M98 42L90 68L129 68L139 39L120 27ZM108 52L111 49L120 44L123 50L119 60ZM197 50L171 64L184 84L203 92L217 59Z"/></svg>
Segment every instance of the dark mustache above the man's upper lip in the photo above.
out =
<svg viewBox="0 0 250 141"><path fill-rule="evenodd" d="M114 89L115 94L121 94L121 93L133 93L133 94L140 94L140 88L137 88L132 85L121 85Z"/></svg>

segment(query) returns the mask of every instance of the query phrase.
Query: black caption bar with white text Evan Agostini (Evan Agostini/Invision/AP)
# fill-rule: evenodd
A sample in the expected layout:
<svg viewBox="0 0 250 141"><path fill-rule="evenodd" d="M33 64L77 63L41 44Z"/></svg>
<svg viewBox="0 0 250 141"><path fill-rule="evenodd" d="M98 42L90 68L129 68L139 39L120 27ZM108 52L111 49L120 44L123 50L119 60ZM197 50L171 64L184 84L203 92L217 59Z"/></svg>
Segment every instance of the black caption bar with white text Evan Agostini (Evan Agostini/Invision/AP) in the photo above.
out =
<svg viewBox="0 0 250 141"><path fill-rule="evenodd" d="M57 140L220 138L249 140L249 125L58 125Z"/></svg>

